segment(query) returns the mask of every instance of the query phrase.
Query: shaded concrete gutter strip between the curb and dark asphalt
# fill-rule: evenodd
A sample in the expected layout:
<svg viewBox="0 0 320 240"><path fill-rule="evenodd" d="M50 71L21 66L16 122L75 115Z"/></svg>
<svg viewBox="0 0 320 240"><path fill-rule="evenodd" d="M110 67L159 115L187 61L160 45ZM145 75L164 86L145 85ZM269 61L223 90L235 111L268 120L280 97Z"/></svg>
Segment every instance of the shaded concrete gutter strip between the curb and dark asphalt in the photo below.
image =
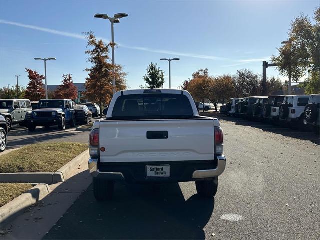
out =
<svg viewBox="0 0 320 240"><path fill-rule="evenodd" d="M50 185L52 192L38 204L25 209L12 222L1 225L11 230L1 239L42 239L91 182L85 162L68 180Z"/></svg>

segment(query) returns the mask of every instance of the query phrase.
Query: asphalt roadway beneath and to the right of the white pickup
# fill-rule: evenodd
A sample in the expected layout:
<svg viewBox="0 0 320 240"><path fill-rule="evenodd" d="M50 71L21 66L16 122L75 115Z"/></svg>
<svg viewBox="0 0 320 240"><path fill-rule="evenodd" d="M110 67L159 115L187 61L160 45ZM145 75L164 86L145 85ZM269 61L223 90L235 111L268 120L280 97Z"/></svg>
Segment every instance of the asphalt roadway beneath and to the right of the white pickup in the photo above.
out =
<svg viewBox="0 0 320 240"><path fill-rule="evenodd" d="M214 199L200 198L193 182L118 183L111 201L96 202L90 185L44 239L319 239L318 137L220 123L227 167Z"/></svg>

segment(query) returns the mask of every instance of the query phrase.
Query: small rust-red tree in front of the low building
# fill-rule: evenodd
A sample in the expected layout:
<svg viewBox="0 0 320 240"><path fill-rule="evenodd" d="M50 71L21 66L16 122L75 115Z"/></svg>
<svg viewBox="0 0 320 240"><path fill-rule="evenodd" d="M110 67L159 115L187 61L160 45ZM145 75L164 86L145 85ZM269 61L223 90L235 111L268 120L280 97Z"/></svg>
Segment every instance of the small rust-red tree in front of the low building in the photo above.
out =
<svg viewBox="0 0 320 240"><path fill-rule="evenodd" d="M54 98L75 100L78 97L78 89L73 84L72 74L62 75L62 83L54 91Z"/></svg>

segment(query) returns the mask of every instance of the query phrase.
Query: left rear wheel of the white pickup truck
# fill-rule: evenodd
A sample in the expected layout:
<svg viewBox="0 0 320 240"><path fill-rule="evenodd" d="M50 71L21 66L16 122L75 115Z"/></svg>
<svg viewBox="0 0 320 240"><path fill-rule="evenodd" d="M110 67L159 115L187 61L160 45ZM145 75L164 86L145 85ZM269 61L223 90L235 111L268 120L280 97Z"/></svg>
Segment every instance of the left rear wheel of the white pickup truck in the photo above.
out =
<svg viewBox="0 0 320 240"><path fill-rule="evenodd" d="M93 177L93 194L97 201L110 200L114 192L114 183Z"/></svg>

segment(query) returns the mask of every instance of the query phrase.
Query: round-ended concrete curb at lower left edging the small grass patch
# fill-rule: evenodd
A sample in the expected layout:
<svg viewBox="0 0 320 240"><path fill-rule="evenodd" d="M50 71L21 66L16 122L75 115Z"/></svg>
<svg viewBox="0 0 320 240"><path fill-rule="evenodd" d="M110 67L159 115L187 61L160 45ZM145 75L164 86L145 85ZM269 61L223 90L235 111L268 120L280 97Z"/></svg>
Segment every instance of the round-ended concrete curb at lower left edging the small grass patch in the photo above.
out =
<svg viewBox="0 0 320 240"><path fill-rule="evenodd" d="M6 203L4 206L0 207L0 223L3 223L23 209L43 199L50 191L50 187L47 184L38 184L12 201Z"/></svg>

